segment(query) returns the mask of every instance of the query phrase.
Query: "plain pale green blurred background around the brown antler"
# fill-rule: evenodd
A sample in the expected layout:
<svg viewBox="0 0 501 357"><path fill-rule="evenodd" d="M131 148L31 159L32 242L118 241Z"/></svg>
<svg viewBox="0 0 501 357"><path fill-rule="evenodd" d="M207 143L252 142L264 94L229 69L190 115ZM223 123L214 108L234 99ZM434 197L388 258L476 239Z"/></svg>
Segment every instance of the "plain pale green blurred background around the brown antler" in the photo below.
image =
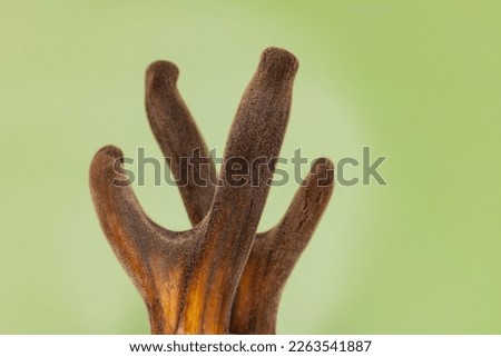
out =
<svg viewBox="0 0 501 357"><path fill-rule="evenodd" d="M149 331L89 162L107 143L160 157L144 110L157 59L177 63L222 152L259 53L278 46L301 62L282 155L389 157L387 186L336 187L278 333L501 334L500 18L498 0L2 0L0 333ZM149 184L135 187L146 211L187 229L177 189ZM296 188L273 188L261 229Z"/></svg>

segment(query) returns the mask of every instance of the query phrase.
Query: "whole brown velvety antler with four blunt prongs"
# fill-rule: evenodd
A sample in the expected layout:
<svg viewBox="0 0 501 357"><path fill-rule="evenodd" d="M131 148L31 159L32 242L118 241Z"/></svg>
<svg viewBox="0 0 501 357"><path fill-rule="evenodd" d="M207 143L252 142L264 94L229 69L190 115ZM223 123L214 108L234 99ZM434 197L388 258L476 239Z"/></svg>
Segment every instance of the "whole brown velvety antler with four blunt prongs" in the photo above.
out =
<svg viewBox="0 0 501 357"><path fill-rule="evenodd" d="M164 61L148 68L147 113L175 178L183 182L180 194L194 225L188 231L169 231L146 216L128 182L117 177L124 173L119 149L105 147L96 153L90 168L96 209L108 241L147 305L151 333L275 333L285 280L333 188L332 163L317 160L282 221L255 238L296 70L297 61L287 51L263 52L216 180L207 147L176 89L177 68Z"/></svg>

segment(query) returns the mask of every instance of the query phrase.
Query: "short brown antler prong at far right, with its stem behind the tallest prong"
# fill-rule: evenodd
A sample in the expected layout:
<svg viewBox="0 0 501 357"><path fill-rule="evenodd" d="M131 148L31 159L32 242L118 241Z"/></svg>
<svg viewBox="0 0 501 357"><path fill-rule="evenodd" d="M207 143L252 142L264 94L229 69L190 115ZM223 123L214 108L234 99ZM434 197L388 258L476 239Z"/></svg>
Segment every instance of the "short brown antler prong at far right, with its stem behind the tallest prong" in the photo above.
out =
<svg viewBox="0 0 501 357"><path fill-rule="evenodd" d="M257 235L235 296L233 334L275 334L278 301L333 192L334 166L317 159L278 225Z"/></svg>

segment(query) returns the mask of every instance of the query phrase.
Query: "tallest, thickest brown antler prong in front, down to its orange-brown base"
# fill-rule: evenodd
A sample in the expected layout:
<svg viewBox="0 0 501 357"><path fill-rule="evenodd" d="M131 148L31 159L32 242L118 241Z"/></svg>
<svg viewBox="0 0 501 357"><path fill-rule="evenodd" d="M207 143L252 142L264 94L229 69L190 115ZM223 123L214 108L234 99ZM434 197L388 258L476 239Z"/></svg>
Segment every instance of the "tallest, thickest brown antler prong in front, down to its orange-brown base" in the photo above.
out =
<svg viewBox="0 0 501 357"><path fill-rule="evenodd" d="M265 50L232 126L222 186L217 187L212 209L200 222L205 228L204 248L189 278L191 292L186 301L185 320L200 319L206 330L227 333L234 294L269 189L273 159L284 138L296 70L293 54L277 48ZM243 185L232 182L235 159L248 170L249 180ZM253 170L256 159L262 165ZM200 300L206 301L204 310L197 308ZM185 326L185 331L193 331L190 325Z"/></svg>

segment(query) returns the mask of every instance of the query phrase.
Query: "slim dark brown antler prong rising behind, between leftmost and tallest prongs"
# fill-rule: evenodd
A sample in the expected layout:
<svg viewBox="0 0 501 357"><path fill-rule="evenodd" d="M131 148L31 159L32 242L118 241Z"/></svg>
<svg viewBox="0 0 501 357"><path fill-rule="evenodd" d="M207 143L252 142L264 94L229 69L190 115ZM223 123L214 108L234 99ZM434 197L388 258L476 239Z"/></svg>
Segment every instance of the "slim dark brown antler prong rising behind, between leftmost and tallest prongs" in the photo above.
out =
<svg viewBox="0 0 501 357"><path fill-rule="evenodd" d="M178 182L191 225L210 209L216 167L176 87L174 63L156 61L146 70L146 112L157 142Z"/></svg>

